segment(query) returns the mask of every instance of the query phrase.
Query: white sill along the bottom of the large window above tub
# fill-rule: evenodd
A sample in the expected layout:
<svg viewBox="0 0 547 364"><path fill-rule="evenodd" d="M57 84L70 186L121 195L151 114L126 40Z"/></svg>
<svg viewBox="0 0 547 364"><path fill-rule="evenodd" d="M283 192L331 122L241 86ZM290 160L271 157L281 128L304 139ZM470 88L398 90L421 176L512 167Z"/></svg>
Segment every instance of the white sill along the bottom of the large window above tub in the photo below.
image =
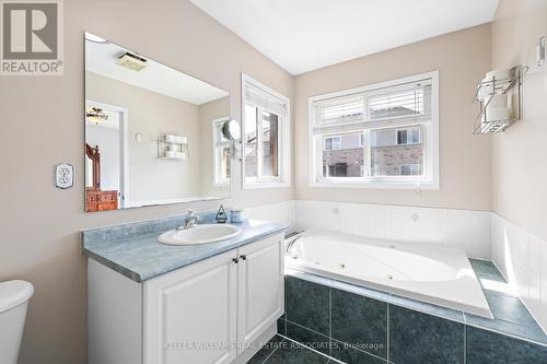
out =
<svg viewBox="0 0 547 364"><path fill-rule="evenodd" d="M403 189L403 190L439 190L438 181L417 180L341 180L321 179L310 183L310 187L319 188L366 188L366 189Z"/></svg>

